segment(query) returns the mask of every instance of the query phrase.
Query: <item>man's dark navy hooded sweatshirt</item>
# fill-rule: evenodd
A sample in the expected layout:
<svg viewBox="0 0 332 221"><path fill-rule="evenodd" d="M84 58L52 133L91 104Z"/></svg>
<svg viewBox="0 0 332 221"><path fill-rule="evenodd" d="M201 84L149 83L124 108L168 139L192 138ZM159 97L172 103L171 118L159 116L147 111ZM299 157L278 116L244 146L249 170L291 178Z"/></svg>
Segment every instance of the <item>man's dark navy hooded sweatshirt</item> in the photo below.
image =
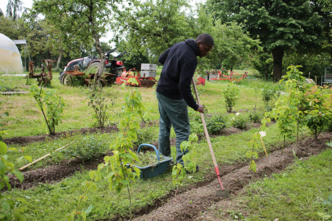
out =
<svg viewBox="0 0 332 221"><path fill-rule="evenodd" d="M190 84L197 67L199 47L194 39L177 43L159 57L164 65L157 84L157 92L165 97L184 99L188 106L197 110L198 104L192 96Z"/></svg>

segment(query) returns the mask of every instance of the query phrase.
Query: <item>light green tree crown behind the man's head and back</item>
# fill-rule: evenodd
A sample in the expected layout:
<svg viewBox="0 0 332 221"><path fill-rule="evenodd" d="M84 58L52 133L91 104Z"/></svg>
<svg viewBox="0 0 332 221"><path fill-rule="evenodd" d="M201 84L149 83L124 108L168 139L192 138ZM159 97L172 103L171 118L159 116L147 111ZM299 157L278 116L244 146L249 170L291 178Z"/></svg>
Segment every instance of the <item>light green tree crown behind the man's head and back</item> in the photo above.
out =
<svg viewBox="0 0 332 221"><path fill-rule="evenodd" d="M133 1L119 14L113 30L117 31L118 41L130 45L131 52L148 52L155 61L171 45L194 37L188 29L186 7L184 0Z"/></svg>

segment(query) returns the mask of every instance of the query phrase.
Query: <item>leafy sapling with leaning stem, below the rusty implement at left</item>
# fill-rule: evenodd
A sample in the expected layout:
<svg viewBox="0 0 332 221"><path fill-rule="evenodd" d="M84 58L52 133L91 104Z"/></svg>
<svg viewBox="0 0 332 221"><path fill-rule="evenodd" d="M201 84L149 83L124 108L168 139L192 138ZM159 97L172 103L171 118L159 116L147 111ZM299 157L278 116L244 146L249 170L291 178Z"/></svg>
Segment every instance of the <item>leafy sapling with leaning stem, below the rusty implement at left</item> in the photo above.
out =
<svg viewBox="0 0 332 221"><path fill-rule="evenodd" d="M61 123L61 115L65 106L62 97L58 95L56 89L45 91L42 86L39 89L36 84L30 87L30 92L34 100L36 100L38 107L41 108L49 134L54 135L55 126Z"/></svg>

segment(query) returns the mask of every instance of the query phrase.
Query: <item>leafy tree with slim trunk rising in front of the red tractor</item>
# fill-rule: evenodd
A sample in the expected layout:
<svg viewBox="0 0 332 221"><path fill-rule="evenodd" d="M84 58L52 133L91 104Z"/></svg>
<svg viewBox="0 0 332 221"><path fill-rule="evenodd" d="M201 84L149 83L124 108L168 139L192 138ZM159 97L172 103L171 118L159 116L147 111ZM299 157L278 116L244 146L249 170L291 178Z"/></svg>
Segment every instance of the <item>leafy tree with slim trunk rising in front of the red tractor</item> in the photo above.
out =
<svg viewBox="0 0 332 221"><path fill-rule="evenodd" d="M100 47L100 37L107 32L110 16L118 10L115 3L121 0L36 0L34 10L42 13L63 34L64 40L71 39L90 43L91 38L100 56L98 78L104 69L104 51Z"/></svg>

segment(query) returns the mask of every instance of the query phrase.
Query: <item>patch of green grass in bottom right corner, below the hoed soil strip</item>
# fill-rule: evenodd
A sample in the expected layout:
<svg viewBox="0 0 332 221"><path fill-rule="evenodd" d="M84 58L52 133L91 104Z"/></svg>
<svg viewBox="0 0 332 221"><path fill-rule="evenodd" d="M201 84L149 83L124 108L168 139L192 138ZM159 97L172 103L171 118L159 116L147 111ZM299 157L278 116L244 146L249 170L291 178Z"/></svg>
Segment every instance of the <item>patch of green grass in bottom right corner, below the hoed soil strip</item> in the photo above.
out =
<svg viewBox="0 0 332 221"><path fill-rule="evenodd" d="M331 220L332 150L245 188L248 220Z"/></svg>

